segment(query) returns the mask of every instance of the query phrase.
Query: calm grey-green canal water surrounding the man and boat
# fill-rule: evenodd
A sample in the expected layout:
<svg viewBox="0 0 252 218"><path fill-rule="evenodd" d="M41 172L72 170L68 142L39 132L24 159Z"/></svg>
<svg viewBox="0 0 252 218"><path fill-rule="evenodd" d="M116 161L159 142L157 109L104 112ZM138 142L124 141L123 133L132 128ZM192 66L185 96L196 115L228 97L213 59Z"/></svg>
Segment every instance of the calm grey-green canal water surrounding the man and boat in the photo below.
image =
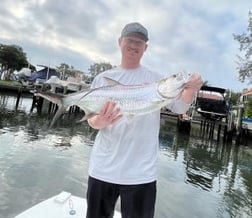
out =
<svg viewBox="0 0 252 218"><path fill-rule="evenodd" d="M0 94L0 218L62 190L85 197L96 132L78 118L29 114L31 99ZM140 131L140 130L139 130ZM179 134L162 120L156 218L252 217L252 145L235 146ZM117 206L119 209L119 206Z"/></svg>

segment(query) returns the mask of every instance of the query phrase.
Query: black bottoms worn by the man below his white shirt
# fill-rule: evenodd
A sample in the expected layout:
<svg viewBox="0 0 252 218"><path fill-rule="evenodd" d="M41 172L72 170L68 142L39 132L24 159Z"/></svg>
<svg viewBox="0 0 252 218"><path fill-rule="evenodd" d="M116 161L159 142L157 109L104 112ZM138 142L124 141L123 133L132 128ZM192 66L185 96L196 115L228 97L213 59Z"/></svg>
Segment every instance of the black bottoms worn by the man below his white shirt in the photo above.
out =
<svg viewBox="0 0 252 218"><path fill-rule="evenodd" d="M120 196L122 218L153 218L156 181L140 185L118 185L89 177L86 218L112 218Z"/></svg>

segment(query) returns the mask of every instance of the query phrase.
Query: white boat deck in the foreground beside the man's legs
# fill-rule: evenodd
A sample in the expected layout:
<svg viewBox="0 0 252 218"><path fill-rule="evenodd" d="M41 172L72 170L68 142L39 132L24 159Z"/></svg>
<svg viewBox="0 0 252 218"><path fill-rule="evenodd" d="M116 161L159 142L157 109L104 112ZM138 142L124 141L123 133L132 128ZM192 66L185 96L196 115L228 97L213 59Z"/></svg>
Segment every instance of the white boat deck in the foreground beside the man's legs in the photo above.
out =
<svg viewBox="0 0 252 218"><path fill-rule="evenodd" d="M15 218L83 218L86 216L86 199L62 191L25 210ZM121 218L115 211L114 218Z"/></svg>

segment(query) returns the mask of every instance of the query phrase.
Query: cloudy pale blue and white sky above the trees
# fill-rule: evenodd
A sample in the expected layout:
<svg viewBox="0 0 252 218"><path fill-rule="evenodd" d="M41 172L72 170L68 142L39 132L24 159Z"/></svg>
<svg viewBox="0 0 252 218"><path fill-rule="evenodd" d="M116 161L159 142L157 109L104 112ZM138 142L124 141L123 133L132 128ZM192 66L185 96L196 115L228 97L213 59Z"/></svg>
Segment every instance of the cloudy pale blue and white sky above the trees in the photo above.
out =
<svg viewBox="0 0 252 218"><path fill-rule="evenodd" d="M251 0L1 0L0 44L21 46L33 65L66 63L88 73L94 63L120 65L125 24L148 29L142 65L169 75L198 72L210 86L239 92L239 43Z"/></svg>

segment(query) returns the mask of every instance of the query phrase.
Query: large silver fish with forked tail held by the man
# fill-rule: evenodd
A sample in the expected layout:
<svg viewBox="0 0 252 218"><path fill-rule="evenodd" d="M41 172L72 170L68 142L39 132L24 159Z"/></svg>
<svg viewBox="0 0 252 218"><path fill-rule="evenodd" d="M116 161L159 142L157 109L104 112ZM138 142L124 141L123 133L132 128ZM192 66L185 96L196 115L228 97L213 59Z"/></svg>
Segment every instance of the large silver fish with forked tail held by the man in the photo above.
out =
<svg viewBox="0 0 252 218"><path fill-rule="evenodd" d="M68 95L36 93L37 96L59 106L50 126L53 126L60 115L73 105L84 110L85 116L82 121L98 114L108 100L116 102L124 115L141 115L160 110L180 96L189 76L178 73L156 82L139 85L124 85L110 78L104 79L108 83L106 86L85 89Z"/></svg>

